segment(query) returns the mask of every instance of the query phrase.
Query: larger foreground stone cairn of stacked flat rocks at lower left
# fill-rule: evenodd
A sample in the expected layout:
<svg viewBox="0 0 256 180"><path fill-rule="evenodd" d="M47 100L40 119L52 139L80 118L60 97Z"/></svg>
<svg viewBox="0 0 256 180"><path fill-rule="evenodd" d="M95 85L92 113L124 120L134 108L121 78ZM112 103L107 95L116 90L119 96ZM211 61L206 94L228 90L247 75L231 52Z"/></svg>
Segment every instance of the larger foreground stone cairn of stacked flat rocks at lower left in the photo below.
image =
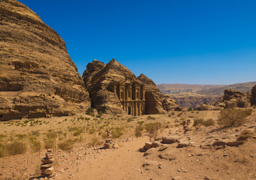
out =
<svg viewBox="0 0 256 180"><path fill-rule="evenodd" d="M42 171L41 175L46 176L47 178L53 177L55 172L53 171L54 168L52 167L52 163L55 161L53 158L52 149L47 149L45 157L41 159L41 167L40 170Z"/></svg>

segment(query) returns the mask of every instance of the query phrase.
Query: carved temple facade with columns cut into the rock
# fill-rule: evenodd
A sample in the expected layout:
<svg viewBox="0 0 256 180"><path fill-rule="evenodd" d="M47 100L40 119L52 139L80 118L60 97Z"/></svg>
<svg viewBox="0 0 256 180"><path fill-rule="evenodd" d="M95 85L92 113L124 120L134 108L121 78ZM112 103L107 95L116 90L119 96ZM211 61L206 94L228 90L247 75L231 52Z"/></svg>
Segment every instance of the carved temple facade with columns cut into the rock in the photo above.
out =
<svg viewBox="0 0 256 180"><path fill-rule="evenodd" d="M126 114L140 116L145 114L145 87L141 83L112 81L110 91L116 93Z"/></svg>

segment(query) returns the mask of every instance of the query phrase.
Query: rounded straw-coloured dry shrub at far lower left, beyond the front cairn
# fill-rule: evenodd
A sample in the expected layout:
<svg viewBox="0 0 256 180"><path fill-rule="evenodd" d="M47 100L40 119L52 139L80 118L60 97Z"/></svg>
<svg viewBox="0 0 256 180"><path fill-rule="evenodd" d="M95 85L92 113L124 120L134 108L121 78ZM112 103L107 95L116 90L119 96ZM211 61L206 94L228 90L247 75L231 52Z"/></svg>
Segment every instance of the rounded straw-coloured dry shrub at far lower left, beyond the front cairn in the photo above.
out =
<svg viewBox="0 0 256 180"><path fill-rule="evenodd" d="M27 144L22 141L14 141L6 145L6 150L10 155L24 154L27 151Z"/></svg>

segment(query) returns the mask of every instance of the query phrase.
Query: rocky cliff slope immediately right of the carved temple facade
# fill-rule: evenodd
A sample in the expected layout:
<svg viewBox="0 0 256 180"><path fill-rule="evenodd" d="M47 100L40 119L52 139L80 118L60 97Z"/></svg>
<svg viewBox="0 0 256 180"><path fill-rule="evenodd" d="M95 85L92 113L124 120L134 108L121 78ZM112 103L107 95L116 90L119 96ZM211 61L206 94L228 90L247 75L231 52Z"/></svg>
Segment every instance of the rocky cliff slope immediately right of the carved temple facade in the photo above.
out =
<svg viewBox="0 0 256 180"><path fill-rule="evenodd" d="M170 111L178 106L175 100L163 95L156 84L144 74L141 74L138 79L145 85L146 89L146 114Z"/></svg>

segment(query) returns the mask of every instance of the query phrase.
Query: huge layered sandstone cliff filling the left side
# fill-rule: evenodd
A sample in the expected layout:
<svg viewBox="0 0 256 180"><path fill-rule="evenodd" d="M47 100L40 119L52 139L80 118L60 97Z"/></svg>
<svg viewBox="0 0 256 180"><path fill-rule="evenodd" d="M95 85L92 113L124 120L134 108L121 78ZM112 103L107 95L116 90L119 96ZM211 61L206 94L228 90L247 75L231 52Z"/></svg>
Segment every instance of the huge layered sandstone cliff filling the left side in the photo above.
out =
<svg viewBox="0 0 256 180"><path fill-rule="evenodd" d="M0 1L0 118L68 115L90 106L65 42L28 7Z"/></svg>

